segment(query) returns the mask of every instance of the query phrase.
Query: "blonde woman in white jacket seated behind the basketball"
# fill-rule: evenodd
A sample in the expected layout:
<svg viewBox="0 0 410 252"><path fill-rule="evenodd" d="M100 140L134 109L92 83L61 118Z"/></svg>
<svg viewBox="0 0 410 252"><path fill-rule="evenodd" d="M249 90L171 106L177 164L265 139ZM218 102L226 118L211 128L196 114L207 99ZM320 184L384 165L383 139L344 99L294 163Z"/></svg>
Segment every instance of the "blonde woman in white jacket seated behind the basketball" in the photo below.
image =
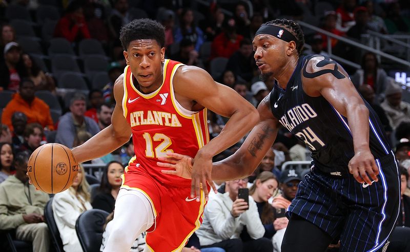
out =
<svg viewBox="0 0 410 252"><path fill-rule="evenodd" d="M71 187L54 196L52 207L64 251L83 251L75 231L75 222L81 213L92 209L92 206L89 184L82 165L79 165L77 177Z"/></svg>

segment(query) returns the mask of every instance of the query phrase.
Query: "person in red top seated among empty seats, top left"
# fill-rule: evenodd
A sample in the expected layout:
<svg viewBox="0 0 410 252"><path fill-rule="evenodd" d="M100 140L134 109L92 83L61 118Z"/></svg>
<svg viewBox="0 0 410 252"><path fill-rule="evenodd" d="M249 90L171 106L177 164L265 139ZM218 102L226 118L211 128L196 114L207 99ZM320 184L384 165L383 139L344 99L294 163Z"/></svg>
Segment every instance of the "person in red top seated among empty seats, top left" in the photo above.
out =
<svg viewBox="0 0 410 252"><path fill-rule="evenodd" d="M64 37L70 42L91 38L83 12L80 1L71 2L66 9L66 14L55 26L54 37Z"/></svg>

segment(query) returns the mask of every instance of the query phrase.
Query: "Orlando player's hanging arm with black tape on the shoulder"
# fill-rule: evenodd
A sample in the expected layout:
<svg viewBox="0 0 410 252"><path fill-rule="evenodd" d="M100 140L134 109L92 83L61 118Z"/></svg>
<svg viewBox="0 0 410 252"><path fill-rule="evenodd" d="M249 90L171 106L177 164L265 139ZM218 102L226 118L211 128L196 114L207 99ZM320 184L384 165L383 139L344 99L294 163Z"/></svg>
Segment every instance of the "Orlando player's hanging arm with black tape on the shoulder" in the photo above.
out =
<svg viewBox="0 0 410 252"><path fill-rule="evenodd" d="M378 181L379 170L369 147L369 112L347 73L336 61L323 56L310 59L302 71L305 93L322 95L337 112L347 117L355 151L348 164L350 173L360 183Z"/></svg>

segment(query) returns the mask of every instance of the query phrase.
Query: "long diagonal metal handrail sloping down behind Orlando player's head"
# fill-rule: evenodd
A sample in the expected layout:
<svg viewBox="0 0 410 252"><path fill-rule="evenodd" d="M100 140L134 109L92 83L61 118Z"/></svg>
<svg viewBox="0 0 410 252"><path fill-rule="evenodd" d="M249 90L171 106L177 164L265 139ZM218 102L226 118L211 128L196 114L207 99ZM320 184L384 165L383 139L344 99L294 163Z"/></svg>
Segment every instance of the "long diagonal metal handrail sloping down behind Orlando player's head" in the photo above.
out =
<svg viewBox="0 0 410 252"><path fill-rule="evenodd" d="M345 38L345 37L342 37L342 36L333 34L333 33L331 33L331 32L325 31L325 30L323 30L323 29L320 29L320 28L318 28L318 27L316 27L316 26L310 25L310 24L305 23L305 22L303 22L303 21L298 21L298 23L299 23L299 25L301 25L301 26L303 26L303 27L306 27L306 28L312 29L312 30L314 30L314 31L317 31L317 32L319 32L319 33L322 33L322 34L327 35L328 39L329 39L329 37L336 38L336 39L338 39L338 40L340 40L340 41L343 41L343 42L346 43L346 44L349 44L349 45L358 47L358 48L363 49L363 50L366 50L366 51L373 52L373 53L375 53L375 54L377 54L377 55L380 55L380 56L382 56L382 57L385 57L385 58L391 59L391 60L393 60L393 61L395 61L395 62L398 62L399 64L402 64L402 65L405 65L405 66L407 66L407 67L410 67L410 62L408 62L408 61L406 61L406 60L403 60L403 59L401 59L401 58L398 58L398 57L389 55L389 54L387 54L387 53L385 53L385 52L382 52L382 51L380 51L380 50L376 50L376 49L374 49L374 48L370 48L370 47L363 46L362 44L357 43L356 41L353 41L353 40L351 40L351 39L348 39L348 38Z"/></svg>

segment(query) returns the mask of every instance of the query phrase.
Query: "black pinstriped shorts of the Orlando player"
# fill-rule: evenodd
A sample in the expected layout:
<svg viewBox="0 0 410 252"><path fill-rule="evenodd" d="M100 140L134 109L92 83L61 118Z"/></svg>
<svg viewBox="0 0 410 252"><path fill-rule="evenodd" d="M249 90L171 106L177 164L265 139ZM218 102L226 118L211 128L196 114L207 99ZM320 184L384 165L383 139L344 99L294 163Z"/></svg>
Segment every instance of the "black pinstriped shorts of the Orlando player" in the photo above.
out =
<svg viewBox="0 0 410 252"><path fill-rule="evenodd" d="M335 178L313 168L288 211L340 239L340 251L379 250L399 215L401 179L393 153L376 159L376 164L379 181L367 187L353 176Z"/></svg>

